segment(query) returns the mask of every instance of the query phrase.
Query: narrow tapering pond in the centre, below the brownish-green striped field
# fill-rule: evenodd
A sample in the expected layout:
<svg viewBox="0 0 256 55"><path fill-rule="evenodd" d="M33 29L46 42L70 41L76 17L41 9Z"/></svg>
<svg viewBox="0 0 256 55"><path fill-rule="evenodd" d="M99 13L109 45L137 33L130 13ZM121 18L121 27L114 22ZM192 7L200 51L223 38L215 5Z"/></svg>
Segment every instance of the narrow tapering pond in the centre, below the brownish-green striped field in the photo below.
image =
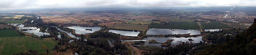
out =
<svg viewBox="0 0 256 55"><path fill-rule="evenodd" d="M139 31L134 32L134 31L119 31L119 30L109 30L109 32L113 32L113 33L125 35L125 36L138 36L138 34L140 33Z"/></svg>

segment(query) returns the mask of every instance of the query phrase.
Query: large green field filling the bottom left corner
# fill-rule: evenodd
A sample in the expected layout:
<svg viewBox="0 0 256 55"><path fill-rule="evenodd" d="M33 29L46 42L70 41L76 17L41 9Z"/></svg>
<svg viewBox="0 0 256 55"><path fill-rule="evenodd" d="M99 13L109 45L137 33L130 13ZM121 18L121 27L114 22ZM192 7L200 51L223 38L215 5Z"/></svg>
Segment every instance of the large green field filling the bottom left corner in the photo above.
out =
<svg viewBox="0 0 256 55"><path fill-rule="evenodd" d="M46 53L46 49L54 51L54 46L57 43L52 38L0 37L0 55L12 55L25 50L37 50L37 53Z"/></svg>

